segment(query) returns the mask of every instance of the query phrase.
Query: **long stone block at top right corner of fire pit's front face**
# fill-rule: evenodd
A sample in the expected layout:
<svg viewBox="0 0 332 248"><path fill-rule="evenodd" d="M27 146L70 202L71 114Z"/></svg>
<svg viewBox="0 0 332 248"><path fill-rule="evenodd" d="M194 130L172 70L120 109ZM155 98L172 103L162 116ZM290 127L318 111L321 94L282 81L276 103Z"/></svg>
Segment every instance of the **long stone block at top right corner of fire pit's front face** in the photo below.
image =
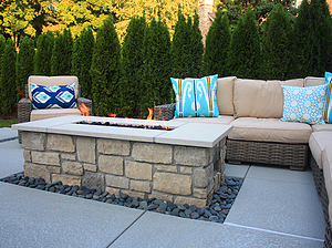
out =
<svg viewBox="0 0 332 248"><path fill-rule="evenodd" d="M200 147L175 146L174 159L177 165L205 167L212 162L214 149Z"/></svg>

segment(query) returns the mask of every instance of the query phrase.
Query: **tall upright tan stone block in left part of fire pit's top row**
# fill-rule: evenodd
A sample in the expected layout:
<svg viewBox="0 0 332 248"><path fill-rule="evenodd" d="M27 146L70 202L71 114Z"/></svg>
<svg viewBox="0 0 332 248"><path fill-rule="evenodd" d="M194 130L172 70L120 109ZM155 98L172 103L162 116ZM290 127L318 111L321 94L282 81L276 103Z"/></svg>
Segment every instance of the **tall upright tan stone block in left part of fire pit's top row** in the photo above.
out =
<svg viewBox="0 0 332 248"><path fill-rule="evenodd" d="M77 137L76 153L80 162L95 164L95 138Z"/></svg>

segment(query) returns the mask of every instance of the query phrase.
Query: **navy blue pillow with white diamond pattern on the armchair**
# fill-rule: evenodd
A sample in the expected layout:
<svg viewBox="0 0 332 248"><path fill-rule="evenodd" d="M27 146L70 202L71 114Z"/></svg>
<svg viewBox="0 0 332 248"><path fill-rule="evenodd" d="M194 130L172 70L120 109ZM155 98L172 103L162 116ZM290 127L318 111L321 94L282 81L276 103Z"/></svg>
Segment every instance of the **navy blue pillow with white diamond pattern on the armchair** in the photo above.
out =
<svg viewBox="0 0 332 248"><path fill-rule="evenodd" d="M30 83L33 108L74 108L75 84L59 86L42 86Z"/></svg>

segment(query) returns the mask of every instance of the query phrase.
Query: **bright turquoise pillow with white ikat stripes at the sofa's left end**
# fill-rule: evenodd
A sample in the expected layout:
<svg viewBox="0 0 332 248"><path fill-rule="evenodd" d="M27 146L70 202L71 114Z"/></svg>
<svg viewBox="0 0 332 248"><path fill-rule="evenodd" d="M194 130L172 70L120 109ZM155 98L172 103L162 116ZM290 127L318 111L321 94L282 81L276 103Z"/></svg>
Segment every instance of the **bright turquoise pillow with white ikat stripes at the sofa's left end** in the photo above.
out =
<svg viewBox="0 0 332 248"><path fill-rule="evenodd" d="M175 117L218 117L217 80L217 74L198 80L170 78L176 96Z"/></svg>

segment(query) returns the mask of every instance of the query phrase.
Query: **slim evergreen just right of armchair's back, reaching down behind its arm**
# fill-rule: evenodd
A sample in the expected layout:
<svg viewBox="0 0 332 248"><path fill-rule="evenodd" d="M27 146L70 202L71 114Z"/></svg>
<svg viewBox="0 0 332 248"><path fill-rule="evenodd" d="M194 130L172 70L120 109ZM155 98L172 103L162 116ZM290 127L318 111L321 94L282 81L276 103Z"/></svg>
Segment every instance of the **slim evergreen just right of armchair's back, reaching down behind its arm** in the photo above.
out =
<svg viewBox="0 0 332 248"><path fill-rule="evenodd" d="M90 69L92 63L94 48L94 37L92 29L83 29L81 35L75 40L72 56L72 73L80 80L81 95L91 99L91 75Z"/></svg>

